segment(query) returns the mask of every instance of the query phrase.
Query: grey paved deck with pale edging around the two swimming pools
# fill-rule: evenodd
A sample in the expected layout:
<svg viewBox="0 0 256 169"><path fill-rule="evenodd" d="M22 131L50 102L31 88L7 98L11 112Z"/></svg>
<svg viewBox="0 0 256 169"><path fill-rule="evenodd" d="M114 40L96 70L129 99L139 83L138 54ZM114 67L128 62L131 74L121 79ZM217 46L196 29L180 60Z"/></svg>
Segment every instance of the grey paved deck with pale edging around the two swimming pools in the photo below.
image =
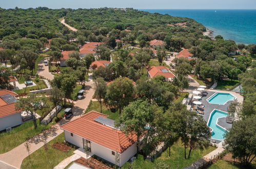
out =
<svg viewBox="0 0 256 169"><path fill-rule="evenodd" d="M211 114L211 112L214 109L221 110L223 112L227 112L228 105L231 103L231 101L227 101L225 104L212 104L212 103L209 103L207 101L207 99L209 97L211 97L214 93L216 93L216 92L218 92L218 93L230 93L234 97L237 98L238 102L243 102L243 96L241 96L240 94L235 93L235 92L220 91L220 90L206 90L206 91L208 92L208 95L206 97L202 97L202 100L200 100L205 105L203 118L204 118L204 120L206 122L208 122L210 114ZM220 126L222 126L223 128L227 129L227 130L229 130L231 128L231 126L232 126L232 124L226 122L226 118L225 117L220 118L219 121L218 121L218 124ZM211 141L212 141L212 139L211 139ZM220 140L216 140L216 143L220 143L220 142L221 142Z"/></svg>

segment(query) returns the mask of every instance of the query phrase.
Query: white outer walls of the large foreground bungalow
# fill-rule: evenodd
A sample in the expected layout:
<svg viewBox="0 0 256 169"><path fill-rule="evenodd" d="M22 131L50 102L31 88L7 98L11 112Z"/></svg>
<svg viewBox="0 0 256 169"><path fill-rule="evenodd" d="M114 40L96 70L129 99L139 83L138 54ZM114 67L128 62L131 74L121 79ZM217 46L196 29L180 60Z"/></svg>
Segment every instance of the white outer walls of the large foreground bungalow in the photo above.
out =
<svg viewBox="0 0 256 169"><path fill-rule="evenodd" d="M65 130L64 130L64 134L65 134L66 141L68 141L78 147L81 147L81 148L84 147L82 137L75 135L74 133L73 133L73 137L72 137L70 132L65 131ZM100 144L97 144L97 143L91 141L91 153L115 164L115 155L112 155L112 150L108 149L105 146L102 146ZM124 163L127 162L132 156L134 156L134 154L136 154L136 143L131 145L126 151L124 151L120 155L121 166L124 165Z"/></svg>

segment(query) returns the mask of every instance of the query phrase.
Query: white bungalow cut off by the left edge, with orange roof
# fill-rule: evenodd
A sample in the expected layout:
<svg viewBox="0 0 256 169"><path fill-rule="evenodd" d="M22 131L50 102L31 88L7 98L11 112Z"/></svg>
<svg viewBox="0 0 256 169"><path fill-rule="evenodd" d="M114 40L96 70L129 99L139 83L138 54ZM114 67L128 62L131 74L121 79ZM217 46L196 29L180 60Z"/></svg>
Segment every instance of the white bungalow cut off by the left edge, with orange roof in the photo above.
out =
<svg viewBox="0 0 256 169"><path fill-rule="evenodd" d="M21 111L15 109L16 93L0 90L0 131L22 124Z"/></svg>

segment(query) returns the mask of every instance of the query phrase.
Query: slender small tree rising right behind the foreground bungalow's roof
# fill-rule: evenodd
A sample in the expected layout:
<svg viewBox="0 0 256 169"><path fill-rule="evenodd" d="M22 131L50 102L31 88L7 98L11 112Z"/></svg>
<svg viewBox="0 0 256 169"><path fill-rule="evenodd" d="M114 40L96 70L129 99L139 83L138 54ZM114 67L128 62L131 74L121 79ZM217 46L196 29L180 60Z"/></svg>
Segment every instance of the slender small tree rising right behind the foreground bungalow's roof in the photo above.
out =
<svg viewBox="0 0 256 169"><path fill-rule="evenodd" d="M102 113L102 99L105 97L107 93L107 85L106 81L102 77L96 78L94 81L94 89L95 89L95 98L101 103L101 113Z"/></svg>

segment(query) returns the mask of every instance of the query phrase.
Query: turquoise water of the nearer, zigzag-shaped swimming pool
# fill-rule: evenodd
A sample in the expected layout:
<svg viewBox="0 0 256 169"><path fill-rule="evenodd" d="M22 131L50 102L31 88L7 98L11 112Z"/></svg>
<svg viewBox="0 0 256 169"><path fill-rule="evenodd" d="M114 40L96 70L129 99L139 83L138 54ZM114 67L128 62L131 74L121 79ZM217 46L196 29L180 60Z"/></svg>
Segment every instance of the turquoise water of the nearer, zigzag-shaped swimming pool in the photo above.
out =
<svg viewBox="0 0 256 169"><path fill-rule="evenodd" d="M214 110L211 113L210 119L208 121L208 126L213 130L211 133L211 138L217 139L217 140L223 140L224 134L227 132L225 129L221 128L219 125L217 125L217 120L218 118L221 117L226 117L228 113L219 111L219 110Z"/></svg>

